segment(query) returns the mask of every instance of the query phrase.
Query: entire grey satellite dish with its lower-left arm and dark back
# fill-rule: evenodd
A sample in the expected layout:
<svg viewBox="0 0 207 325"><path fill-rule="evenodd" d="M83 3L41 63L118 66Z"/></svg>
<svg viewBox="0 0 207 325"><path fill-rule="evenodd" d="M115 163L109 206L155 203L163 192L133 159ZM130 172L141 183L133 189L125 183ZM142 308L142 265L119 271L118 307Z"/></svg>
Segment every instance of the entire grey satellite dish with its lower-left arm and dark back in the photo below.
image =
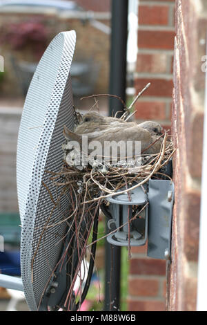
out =
<svg viewBox="0 0 207 325"><path fill-rule="evenodd" d="M84 257L79 258L82 252L74 218L67 219L72 196L66 187L56 187L48 174L59 172L63 165L63 125L71 130L74 127L70 67L75 41L72 30L60 32L49 44L30 83L19 127L21 279L0 275L0 286L23 290L30 310L77 310L88 292L94 267L98 209L82 290L81 269L87 263ZM79 223L84 240L89 236L88 220L86 215ZM77 283L79 296L74 292Z"/></svg>

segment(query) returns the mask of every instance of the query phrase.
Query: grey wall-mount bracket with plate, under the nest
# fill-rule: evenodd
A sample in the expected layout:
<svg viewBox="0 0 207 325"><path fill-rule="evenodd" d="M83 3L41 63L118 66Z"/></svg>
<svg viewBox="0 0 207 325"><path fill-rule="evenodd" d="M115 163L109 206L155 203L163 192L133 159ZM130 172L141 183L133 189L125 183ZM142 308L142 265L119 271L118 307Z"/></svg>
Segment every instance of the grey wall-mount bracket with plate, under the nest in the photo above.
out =
<svg viewBox="0 0 207 325"><path fill-rule="evenodd" d="M174 203L174 185L170 180L149 180L145 185L128 194L117 194L108 198L112 219L108 228L113 232L107 236L112 245L141 246L148 240L148 257L170 260L170 241L172 208ZM141 218L132 219L132 205L144 206L149 203ZM130 241L128 235L130 233Z"/></svg>

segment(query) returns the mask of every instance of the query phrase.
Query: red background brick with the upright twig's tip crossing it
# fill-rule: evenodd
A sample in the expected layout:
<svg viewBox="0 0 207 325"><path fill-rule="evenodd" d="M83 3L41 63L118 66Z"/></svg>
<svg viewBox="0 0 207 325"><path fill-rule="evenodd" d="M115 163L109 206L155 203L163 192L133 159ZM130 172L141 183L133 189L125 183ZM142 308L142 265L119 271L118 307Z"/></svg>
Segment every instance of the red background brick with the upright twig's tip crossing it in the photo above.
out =
<svg viewBox="0 0 207 325"><path fill-rule="evenodd" d="M144 96L155 96L155 97L172 97L172 88L173 82L172 80L165 80L165 79L152 79L152 78L137 78L135 80L135 88L137 93L144 89L144 86L151 83L150 87L147 91L142 95Z"/></svg>

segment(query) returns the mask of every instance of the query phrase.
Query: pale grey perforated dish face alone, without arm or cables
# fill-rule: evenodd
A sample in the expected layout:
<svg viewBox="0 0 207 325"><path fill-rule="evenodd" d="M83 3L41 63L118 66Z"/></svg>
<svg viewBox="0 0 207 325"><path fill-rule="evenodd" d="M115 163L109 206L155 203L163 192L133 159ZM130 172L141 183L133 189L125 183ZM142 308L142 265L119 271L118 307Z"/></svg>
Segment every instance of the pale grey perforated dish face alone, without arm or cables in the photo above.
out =
<svg viewBox="0 0 207 325"><path fill-rule="evenodd" d="M26 301L37 310L63 248L69 197L46 171L63 161L63 125L73 127L70 66L75 31L50 43L34 73L23 108L17 145L17 193L21 217L21 277ZM50 192L50 194L49 194ZM52 198L52 199L51 199ZM54 205L54 202L57 204Z"/></svg>

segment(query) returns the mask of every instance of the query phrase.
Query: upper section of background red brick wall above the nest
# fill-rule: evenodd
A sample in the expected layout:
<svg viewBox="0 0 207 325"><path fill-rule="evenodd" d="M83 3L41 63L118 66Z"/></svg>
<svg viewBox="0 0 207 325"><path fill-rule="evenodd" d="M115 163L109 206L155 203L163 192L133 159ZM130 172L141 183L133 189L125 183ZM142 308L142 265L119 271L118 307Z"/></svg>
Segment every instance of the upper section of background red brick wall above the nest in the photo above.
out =
<svg viewBox="0 0 207 325"><path fill-rule="evenodd" d="M137 102L137 120L157 120L169 129L172 106L172 62L175 1L139 1L137 93L151 86Z"/></svg>

